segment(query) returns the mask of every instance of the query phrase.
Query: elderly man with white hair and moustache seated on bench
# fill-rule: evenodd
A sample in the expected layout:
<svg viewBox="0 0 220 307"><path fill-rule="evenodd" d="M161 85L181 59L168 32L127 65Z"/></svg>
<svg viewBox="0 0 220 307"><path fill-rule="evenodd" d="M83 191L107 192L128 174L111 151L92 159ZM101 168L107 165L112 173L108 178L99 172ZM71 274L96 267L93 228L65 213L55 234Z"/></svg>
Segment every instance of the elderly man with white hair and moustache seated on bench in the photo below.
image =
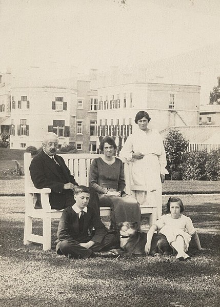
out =
<svg viewBox="0 0 220 307"><path fill-rule="evenodd" d="M64 159L56 155L58 149L58 136L48 132L43 141L43 149L31 161L30 174L35 188L50 188L50 206L52 209L61 210L72 206L74 190L78 186L74 176L66 166ZM99 215L98 196L91 190L90 202ZM35 209L41 209L41 197L37 195Z"/></svg>

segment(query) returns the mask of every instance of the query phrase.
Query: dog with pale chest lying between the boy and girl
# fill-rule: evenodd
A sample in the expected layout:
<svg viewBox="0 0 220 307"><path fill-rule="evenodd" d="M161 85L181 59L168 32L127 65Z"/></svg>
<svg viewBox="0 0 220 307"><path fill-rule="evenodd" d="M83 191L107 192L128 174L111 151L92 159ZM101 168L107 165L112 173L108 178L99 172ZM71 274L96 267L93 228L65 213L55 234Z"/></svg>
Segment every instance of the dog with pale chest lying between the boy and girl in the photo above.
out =
<svg viewBox="0 0 220 307"><path fill-rule="evenodd" d="M125 253L130 255L145 254L145 244L147 242L147 234L137 229L137 222L119 223L120 247ZM172 249L162 234L154 234L151 242L150 254L170 255Z"/></svg>

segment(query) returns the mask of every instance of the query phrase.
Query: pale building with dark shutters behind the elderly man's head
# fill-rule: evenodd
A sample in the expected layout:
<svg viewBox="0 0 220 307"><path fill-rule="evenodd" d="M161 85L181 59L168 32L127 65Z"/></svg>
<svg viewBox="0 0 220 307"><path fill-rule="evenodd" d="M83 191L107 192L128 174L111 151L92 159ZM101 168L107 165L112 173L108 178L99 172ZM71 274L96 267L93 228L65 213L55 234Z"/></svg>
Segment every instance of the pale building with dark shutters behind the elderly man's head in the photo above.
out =
<svg viewBox="0 0 220 307"><path fill-rule="evenodd" d="M10 148L39 148L46 132L55 132L59 136L59 147L75 141L75 90L12 87L10 92Z"/></svg>

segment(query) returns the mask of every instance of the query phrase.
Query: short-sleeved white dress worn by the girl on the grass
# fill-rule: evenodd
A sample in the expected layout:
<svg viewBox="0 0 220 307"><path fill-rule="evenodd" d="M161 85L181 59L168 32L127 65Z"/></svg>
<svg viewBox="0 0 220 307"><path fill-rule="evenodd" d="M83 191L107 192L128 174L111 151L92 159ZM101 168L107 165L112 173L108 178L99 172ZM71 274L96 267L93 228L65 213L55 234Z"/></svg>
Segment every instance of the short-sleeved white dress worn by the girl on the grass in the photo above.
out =
<svg viewBox="0 0 220 307"><path fill-rule="evenodd" d="M165 214L156 221L156 227L159 233L166 236L169 243L172 243L178 235L181 235L185 242L185 252L188 251L189 242L195 233L195 228L190 217L181 214L179 218L175 219L171 217L170 213Z"/></svg>

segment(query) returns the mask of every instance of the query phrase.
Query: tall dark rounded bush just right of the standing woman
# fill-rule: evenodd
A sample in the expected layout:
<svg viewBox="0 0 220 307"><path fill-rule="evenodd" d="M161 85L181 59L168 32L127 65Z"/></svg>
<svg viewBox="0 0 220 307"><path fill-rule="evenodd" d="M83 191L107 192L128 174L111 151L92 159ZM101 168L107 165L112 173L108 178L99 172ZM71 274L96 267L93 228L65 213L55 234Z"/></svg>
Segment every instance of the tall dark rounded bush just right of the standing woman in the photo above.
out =
<svg viewBox="0 0 220 307"><path fill-rule="evenodd" d="M180 170L188 148L188 140L176 128L170 129L164 139L164 148L167 155L167 169L171 174Z"/></svg>

